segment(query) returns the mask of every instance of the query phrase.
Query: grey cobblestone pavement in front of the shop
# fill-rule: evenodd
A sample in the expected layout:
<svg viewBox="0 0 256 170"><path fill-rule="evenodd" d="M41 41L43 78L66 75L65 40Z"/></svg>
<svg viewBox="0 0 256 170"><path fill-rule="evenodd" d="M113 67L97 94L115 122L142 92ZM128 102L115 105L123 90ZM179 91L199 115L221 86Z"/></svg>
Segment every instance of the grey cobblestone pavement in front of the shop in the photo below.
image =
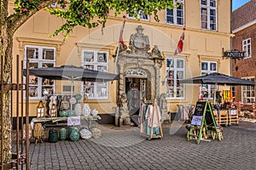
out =
<svg viewBox="0 0 256 170"><path fill-rule="evenodd" d="M256 123L224 127L224 140L187 141L185 124L163 125L163 139L138 127L99 125L100 139L30 144L30 169L255 169Z"/></svg>

